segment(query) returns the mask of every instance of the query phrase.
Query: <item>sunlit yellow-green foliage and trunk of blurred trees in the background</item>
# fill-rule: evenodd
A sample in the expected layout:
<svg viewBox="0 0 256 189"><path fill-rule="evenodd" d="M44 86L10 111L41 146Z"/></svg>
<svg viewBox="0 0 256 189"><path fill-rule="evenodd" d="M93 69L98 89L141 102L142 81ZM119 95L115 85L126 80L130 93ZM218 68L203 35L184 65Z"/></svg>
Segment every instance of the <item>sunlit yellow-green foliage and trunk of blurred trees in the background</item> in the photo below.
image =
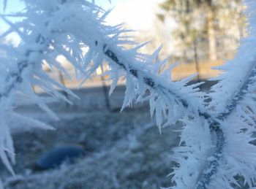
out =
<svg viewBox="0 0 256 189"><path fill-rule="evenodd" d="M165 0L160 7L164 12L158 15L160 20L173 17L178 27L173 35L183 51L182 57L189 60L187 50L193 52L195 39L207 43L208 59L218 59L217 44L222 45L217 36L226 36L230 28L236 30L236 38L243 36L244 16L241 0ZM239 17L238 17L239 16ZM198 50L199 47L197 47ZM185 51L186 50L186 51ZM200 51L205 51L205 47ZM195 56L195 55L190 55Z"/></svg>

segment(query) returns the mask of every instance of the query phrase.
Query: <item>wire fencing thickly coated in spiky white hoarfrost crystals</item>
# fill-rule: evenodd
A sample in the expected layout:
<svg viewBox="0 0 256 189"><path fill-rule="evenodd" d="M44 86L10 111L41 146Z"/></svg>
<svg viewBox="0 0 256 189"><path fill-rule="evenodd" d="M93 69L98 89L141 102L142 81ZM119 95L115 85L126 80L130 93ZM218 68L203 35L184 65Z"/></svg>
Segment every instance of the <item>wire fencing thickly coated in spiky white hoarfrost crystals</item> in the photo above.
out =
<svg viewBox="0 0 256 189"><path fill-rule="evenodd" d="M50 96L69 102L56 88L75 94L42 69L42 64L48 63L69 77L56 61L58 55L64 55L82 80L91 77L103 61L108 62L110 70L105 74L113 81L110 93L118 80L126 79L122 109L134 102L149 101L151 115L155 115L160 131L177 120L182 121L180 146L174 149L172 157L178 166L170 173L176 183L174 188L231 188L231 184L238 185L236 176L243 177L251 188L255 185L256 148L252 144L256 110L255 1L246 1L250 35L241 42L234 60L219 68L225 72L213 79L219 82L210 94L197 89L200 83L187 85L194 76L172 82L170 69L173 67L159 73L167 63L167 59L157 58L161 47L152 55L138 53L145 44L125 48L123 45L136 44L122 35L129 31L122 25L107 26L105 18L110 11L105 12L94 1L23 1L26 4L23 12L0 15L10 25L1 38L15 32L22 39L18 47L0 45L3 52L0 57L0 157L12 174L11 163L15 163L12 126L30 123L51 129L31 117L18 115L14 109L18 106L15 97L23 95L58 119L31 85L38 85ZM24 19L12 23L10 17ZM207 99L211 99L209 104Z"/></svg>

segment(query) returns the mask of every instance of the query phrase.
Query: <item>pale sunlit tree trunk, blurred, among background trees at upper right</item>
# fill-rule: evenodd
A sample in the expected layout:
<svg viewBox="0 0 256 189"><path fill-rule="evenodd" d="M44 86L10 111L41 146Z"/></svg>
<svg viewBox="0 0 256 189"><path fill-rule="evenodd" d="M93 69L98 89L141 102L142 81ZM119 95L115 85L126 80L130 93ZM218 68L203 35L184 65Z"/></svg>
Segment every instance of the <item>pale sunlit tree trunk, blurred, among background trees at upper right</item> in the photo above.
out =
<svg viewBox="0 0 256 189"><path fill-rule="evenodd" d="M215 30L214 30L214 14L211 10L208 11L207 31L208 31L209 59L211 61L216 61L217 60L217 46L216 46Z"/></svg>

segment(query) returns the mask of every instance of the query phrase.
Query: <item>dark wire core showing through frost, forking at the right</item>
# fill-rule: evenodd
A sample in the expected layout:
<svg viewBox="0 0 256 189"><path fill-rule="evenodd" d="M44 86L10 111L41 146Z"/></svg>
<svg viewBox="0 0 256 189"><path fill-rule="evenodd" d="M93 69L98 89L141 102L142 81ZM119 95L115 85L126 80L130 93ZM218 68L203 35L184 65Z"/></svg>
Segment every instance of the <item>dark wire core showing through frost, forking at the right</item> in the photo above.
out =
<svg viewBox="0 0 256 189"><path fill-rule="evenodd" d="M103 51L105 52L105 55L108 56L108 58L117 63L118 66L121 66L122 69L129 71L130 74L138 78L138 74L141 72L140 70L133 69L131 66L129 67L129 69L127 69L127 67L125 66L126 64L122 63L119 60L118 55L116 55L116 53L114 53L113 50L106 48L108 47L108 45L105 44L103 46ZM236 105L238 104L239 101L243 99L244 95L246 94L248 86L252 84L252 80L250 80L250 78L254 75L255 70L252 69L252 72L251 74L249 74L249 77L245 80L244 85L241 86L241 88L238 90L238 93L236 93L234 97L230 100L230 102L227 104L226 109L228 109L228 111L222 112L219 115L217 115L216 118L214 118L207 112L198 109L198 114L208 121L211 131L214 131L214 133L216 134L217 142L216 146L214 147L214 153L211 155L213 160L207 164L207 167L203 169L202 173L200 174L200 177L197 180L197 189L208 188L208 184L211 182L211 177L217 173L219 160L222 158L222 150L223 147L225 146L225 134L223 133L218 120L225 120L233 112L233 110L236 109ZM143 82L145 82L146 85L153 89L165 89L165 87L161 84L156 85L156 82L154 82L154 79L151 77L143 77ZM177 94L173 93L173 91L171 90L167 91L168 93L170 93L171 96L175 96L178 99L178 101L181 102L184 108L189 107L189 102L186 99L182 99L180 96L177 96ZM162 90L162 92L165 93L165 90Z"/></svg>

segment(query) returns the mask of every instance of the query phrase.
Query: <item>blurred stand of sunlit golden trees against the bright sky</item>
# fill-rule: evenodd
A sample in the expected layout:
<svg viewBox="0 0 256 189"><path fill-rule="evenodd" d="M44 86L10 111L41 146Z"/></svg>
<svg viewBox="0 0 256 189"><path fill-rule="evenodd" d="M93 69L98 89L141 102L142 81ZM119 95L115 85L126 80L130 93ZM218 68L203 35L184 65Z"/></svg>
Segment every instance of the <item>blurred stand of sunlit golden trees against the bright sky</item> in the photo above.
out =
<svg viewBox="0 0 256 189"><path fill-rule="evenodd" d="M176 20L176 56L183 62L232 58L245 33L241 0L165 0L157 15Z"/></svg>

